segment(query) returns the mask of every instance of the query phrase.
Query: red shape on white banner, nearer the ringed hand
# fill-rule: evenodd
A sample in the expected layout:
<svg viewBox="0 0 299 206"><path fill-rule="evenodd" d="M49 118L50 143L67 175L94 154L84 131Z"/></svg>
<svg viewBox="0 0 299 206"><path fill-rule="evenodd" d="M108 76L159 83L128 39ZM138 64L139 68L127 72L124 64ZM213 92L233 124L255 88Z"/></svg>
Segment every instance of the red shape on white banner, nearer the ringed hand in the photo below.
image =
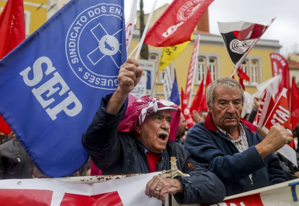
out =
<svg viewBox="0 0 299 206"><path fill-rule="evenodd" d="M122 206L120 196L117 191L110 193L103 193L98 195L77 195L65 193L60 203L60 206L99 206L99 205L113 205Z"/></svg>

